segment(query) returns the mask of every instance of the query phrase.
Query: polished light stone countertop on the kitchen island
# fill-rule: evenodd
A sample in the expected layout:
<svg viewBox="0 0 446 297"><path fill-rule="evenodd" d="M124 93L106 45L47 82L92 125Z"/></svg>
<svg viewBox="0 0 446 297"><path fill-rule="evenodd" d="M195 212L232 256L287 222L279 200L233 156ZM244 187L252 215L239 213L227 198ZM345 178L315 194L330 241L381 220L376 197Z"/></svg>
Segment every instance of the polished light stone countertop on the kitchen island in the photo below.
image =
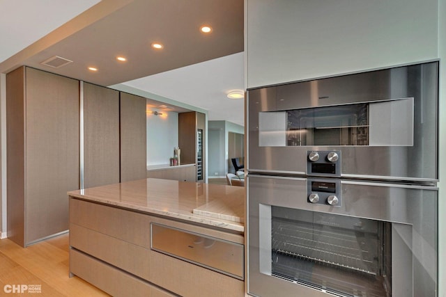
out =
<svg viewBox="0 0 446 297"><path fill-rule="evenodd" d="M245 232L245 188L220 184L139 179L70 191L93 202Z"/></svg>

